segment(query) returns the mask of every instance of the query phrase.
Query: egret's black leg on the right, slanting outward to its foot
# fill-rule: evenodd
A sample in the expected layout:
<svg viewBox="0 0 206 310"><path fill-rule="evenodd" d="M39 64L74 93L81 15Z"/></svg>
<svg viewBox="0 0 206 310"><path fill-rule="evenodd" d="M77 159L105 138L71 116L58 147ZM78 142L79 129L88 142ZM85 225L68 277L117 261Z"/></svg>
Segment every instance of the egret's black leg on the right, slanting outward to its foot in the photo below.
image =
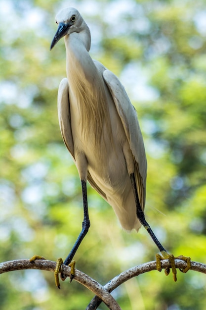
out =
<svg viewBox="0 0 206 310"><path fill-rule="evenodd" d="M139 219L140 223L144 226L144 228L148 231L148 233L150 234L154 243L157 245L160 252L166 252L166 250L164 249L164 247L162 246L162 244L159 242L159 240L155 236L154 232L152 231L150 225L145 220L144 212L142 211L142 208L141 208L140 202L139 202L139 197L138 197L138 193L137 193L137 186L136 186L134 173L130 174L130 179L131 179L132 189L134 192L134 198L135 198L135 203L136 203L137 218Z"/></svg>

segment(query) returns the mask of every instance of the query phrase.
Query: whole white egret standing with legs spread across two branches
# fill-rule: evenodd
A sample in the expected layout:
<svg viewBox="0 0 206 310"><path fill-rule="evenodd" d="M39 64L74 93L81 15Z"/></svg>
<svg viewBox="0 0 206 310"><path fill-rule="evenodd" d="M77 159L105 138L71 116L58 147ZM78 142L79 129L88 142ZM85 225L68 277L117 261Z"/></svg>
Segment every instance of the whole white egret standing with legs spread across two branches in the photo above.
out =
<svg viewBox="0 0 206 310"><path fill-rule="evenodd" d="M82 181L83 198L82 231L64 264L71 262L90 226L88 180L113 207L125 230L138 231L141 224L146 228L163 258L169 258L176 280L174 257L158 241L143 212L147 160L136 111L118 78L90 57L90 31L79 11L61 10L56 23L50 49L64 37L67 57L67 78L58 90L59 124Z"/></svg>

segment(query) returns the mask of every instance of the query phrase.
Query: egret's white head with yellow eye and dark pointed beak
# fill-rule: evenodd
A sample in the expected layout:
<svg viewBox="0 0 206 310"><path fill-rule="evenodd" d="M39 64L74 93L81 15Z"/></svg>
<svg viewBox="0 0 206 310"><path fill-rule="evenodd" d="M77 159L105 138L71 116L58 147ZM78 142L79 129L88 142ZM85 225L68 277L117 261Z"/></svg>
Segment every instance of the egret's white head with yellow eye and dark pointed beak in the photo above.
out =
<svg viewBox="0 0 206 310"><path fill-rule="evenodd" d="M85 26L87 27L79 11L74 7L62 9L56 15L56 23L58 25L58 29L51 42L50 50L64 36L70 35L73 32L79 33L83 30L83 28L85 28Z"/></svg>

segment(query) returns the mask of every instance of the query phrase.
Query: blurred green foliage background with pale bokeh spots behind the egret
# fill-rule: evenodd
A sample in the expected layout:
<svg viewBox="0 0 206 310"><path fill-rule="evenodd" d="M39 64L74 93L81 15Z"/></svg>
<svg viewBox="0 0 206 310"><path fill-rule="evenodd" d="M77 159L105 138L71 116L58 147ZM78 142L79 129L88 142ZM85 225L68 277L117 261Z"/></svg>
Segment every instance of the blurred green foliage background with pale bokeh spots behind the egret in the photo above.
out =
<svg viewBox="0 0 206 310"><path fill-rule="evenodd" d="M82 227L81 182L57 117L64 40L49 51L55 15L67 6L91 30L91 56L120 78L137 109L146 219L169 252L206 263L206 0L0 1L0 261L65 258ZM147 232L124 232L90 187L88 204L78 269L105 284L155 259ZM178 271L174 283L153 271L113 295L123 310L205 310L206 275ZM0 275L1 310L82 310L92 297L75 281L59 291L51 272Z"/></svg>

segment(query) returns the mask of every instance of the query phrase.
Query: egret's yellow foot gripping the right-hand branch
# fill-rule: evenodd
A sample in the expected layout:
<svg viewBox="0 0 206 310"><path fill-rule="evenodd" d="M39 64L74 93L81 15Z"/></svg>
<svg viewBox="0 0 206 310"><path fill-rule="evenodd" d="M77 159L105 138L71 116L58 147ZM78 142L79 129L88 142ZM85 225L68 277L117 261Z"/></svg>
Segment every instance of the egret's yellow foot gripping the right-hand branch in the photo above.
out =
<svg viewBox="0 0 206 310"><path fill-rule="evenodd" d="M189 269L191 269L191 262L189 257L185 257L183 255L180 255L178 257L174 257L172 254L168 254L166 251L162 251L162 256L160 254L156 254L156 260L157 260L157 270L162 271L161 267L161 260L168 259L171 264L172 274L173 274L173 280L174 282L177 281L177 270L175 267L175 261L174 259L182 259L187 262L187 267L184 269L179 269L181 272L186 273ZM170 272L169 265L165 268L165 275L168 275Z"/></svg>

